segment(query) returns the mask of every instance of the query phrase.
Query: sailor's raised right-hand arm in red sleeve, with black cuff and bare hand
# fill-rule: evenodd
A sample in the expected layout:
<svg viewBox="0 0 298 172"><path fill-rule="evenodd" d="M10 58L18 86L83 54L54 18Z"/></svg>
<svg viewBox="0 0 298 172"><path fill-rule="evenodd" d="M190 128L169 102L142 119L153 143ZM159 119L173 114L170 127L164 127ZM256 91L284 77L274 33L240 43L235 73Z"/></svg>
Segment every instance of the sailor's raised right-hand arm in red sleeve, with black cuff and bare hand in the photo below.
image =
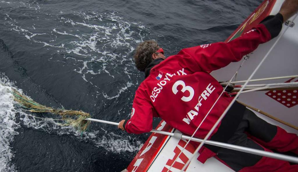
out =
<svg viewBox="0 0 298 172"><path fill-rule="evenodd" d="M257 49L259 44L276 37L282 29L283 22L293 16L297 10L298 0L286 0L277 15L268 16L242 36L228 43L212 43L205 48L195 46L182 49L178 55L184 57L181 60L196 63L198 68L192 68L194 72L220 69L230 62L241 60L244 55Z"/></svg>

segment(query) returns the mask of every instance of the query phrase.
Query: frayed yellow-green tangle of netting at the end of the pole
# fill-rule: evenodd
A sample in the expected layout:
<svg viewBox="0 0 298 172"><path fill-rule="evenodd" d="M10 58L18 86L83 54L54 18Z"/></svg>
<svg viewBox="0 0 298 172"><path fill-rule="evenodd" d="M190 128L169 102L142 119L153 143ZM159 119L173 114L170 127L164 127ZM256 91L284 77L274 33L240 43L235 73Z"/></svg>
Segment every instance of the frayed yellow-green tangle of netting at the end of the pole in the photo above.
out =
<svg viewBox="0 0 298 172"><path fill-rule="evenodd" d="M89 113L76 110L64 110L64 109L53 109L51 107L46 107L44 105L38 104L31 98L19 93L17 90L12 89L14 100L23 108L30 112L38 113L52 113L55 115L60 115L62 120L64 120L63 126L73 126L79 131L86 131L90 121L84 120L86 118L91 118Z"/></svg>

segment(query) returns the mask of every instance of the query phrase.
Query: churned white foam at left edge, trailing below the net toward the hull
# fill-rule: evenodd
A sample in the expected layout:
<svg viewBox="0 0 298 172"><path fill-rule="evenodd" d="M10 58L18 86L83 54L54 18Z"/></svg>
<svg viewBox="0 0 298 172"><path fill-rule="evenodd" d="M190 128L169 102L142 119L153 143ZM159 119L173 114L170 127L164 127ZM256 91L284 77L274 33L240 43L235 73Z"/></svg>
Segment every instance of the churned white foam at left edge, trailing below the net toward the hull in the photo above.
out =
<svg viewBox="0 0 298 172"><path fill-rule="evenodd" d="M129 85L129 84L128 84ZM19 133L15 130L20 126L37 129L39 131L57 134L57 135L72 135L77 139L94 143L95 146L104 148L113 153L122 153L125 151L135 152L142 147L140 140L131 138L130 136L123 137L99 128L97 130L78 132L71 126L61 126L59 121L52 119L38 119L28 115L33 115L31 112L23 111L28 115L20 114L20 123L15 123L15 109L13 94L11 89L14 87L14 82L11 82L3 73L0 73L0 171L14 172L17 171L15 165L11 162L14 157L11 151L10 143L13 142L14 136ZM19 92L22 92L18 89ZM18 109L18 111L22 111ZM103 135L103 132L105 133Z"/></svg>

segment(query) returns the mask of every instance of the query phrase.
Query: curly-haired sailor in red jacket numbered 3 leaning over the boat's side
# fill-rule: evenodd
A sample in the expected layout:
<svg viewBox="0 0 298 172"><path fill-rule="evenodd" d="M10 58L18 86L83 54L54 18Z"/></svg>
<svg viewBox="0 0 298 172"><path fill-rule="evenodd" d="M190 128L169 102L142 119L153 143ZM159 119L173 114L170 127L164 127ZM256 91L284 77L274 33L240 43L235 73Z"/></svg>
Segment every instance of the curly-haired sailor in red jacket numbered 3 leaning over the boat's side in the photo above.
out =
<svg viewBox="0 0 298 172"><path fill-rule="evenodd" d="M285 1L280 13L268 16L261 24L228 43L186 48L168 58L165 58L163 50L155 41L141 43L136 49L134 60L136 67L145 72L145 80L136 90L131 118L122 120L118 128L135 134L150 132L153 117L161 117L182 133L192 135L223 91L223 87L207 71L237 62L259 44L276 37L283 21L297 11L296 2L291 4L293 1ZM232 99L226 92L219 98L195 137L204 138L207 135ZM297 135L263 121L237 102L209 139L260 150L275 149L298 154ZM198 143L192 143L198 146ZM204 163L215 155L235 171L298 171L298 165L290 165L282 160L209 145L200 150L198 160Z"/></svg>

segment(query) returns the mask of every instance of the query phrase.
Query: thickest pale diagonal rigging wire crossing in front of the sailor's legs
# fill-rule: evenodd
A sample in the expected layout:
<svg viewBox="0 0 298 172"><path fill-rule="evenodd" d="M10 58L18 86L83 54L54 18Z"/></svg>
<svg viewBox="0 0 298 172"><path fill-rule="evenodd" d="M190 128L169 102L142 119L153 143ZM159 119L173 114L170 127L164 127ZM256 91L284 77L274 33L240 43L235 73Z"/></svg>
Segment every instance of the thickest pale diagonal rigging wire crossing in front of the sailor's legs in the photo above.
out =
<svg viewBox="0 0 298 172"><path fill-rule="evenodd" d="M294 19L292 20L292 22L297 18L297 15L294 17ZM291 23L292 23L291 22ZM282 35L280 35L277 40L275 41L275 43L271 46L271 48L269 49L269 51L267 52L267 54L263 57L263 59L261 60L261 62L259 63L259 65L257 65L257 67L254 69L254 71L252 72L252 74L249 76L249 78L246 80L246 82L244 83L243 87L240 89L240 91L237 93L237 95L235 96L235 98L233 98L233 100L231 101L231 103L229 104L229 106L226 108L226 110L222 113L222 115L220 116L220 118L218 118L218 120L216 121L216 123L213 125L212 129L208 132L208 134L205 136L204 140L200 143L200 145L198 146L198 148L195 150L195 152L198 152L198 150L200 150L202 148L202 146L204 145L205 141L207 140L207 138L210 137L210 135L212 134L212 132L215 130L215 128L218 126L218 124L220 123L220 121L224 118L224 116L226 115L226 112L228 112L228 110L231 108L232 104L234 104L234 102L236 101L236 98L240 95L240 93L242 92L242 90L244 89L244 87L248 84L248 82L252 79L252 77L254 76L254 74L257 72L257 70L260 68L260 66L263 64L263 62L266 60L266 58L268 57L269 53L272 51L272 49L275 47L275 45L277 44L277 42L280 40L281 37L283 37L283 35L285 34L285 32L288 30L289 25L286 27L286 29L283 31ZM228 84L229 85L229 84ZM213 106L212 106L213 107ZM211 107L211 108L212 108ZM188 142L189 143L189 142ZM185 163L185 165L183 166L183 168L181 169L180 172L184 171L185 168L187 167L187 165L190 163L191 160L193 160L195 154L193 154L193 156Z"/></svg>

